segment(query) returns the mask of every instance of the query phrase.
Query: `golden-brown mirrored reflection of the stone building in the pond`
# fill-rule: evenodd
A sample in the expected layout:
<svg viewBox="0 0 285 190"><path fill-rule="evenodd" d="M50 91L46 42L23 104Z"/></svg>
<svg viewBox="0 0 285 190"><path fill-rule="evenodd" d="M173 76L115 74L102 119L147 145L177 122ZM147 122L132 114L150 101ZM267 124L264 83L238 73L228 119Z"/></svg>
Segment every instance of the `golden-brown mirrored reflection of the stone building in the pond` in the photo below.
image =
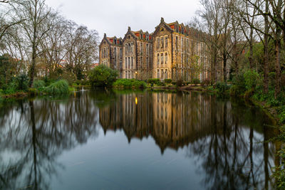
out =
<svg viewBox="0 0 285 190"><path fill-rule="evenodd" d="M103 130L122 129L130 139L154 137L163 153L211 133L211 96L187 93L130 93L100 109Z"/></svg>

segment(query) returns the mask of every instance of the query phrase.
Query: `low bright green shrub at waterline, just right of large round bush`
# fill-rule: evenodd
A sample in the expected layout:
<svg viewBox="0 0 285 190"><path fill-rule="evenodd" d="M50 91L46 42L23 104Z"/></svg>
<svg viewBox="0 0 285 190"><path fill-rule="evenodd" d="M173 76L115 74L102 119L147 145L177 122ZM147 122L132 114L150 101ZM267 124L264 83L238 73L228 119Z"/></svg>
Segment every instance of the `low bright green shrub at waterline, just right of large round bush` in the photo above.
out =
<svg viewBox="0 0 285 190"><path fill-rule="evenodd" d="M146 88L147 84L145 81L142 80L136 80L136 79L128 79L128 78L122 78L118 79L113 83L114 88L140 88L144 89Z"/></svg>

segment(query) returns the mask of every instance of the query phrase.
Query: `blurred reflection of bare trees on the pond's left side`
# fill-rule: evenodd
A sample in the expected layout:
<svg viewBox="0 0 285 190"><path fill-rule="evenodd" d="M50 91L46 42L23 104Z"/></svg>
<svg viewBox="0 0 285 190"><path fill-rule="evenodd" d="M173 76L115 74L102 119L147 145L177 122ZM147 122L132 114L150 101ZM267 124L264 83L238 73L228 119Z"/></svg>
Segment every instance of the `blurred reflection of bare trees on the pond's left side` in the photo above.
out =
<svg viewBox="0 0 285 190"><path fill-rule="evenodd" d="M81 97L80 97L81 96ZM0 188L48 189L56 157L96 137L98 108L88 94L61 100L28 100L0 117Z"/></svg>

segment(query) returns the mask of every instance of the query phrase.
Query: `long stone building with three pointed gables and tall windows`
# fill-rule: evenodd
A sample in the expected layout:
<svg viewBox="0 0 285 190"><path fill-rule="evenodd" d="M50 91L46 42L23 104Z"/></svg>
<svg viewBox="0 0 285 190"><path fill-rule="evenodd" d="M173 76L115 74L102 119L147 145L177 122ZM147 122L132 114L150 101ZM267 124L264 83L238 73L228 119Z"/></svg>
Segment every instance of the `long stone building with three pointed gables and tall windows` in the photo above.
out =
<svg viewBox="0 0 285 190"><path fill-rule="evenodd" d="M120 70L120 78L170 78L172 80L209 78L209 56L206 44L195 29L183 23L160 24L153 33L128 31L123 40L104 35L100 43L100 64ZM116 51L120 49L115 66Z"/></svg>

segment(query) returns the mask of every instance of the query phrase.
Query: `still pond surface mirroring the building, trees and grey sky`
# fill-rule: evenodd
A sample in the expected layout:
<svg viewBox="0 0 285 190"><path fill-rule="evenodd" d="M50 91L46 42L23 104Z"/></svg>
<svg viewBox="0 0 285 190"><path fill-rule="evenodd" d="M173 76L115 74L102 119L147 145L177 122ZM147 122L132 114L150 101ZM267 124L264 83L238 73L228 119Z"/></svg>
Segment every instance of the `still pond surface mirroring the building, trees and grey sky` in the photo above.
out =
<svg viewBox="0 0 285 190"><path fill-rule="evenodd" d="M0 189L274 189L257 107L200 93L81 91L0 105Z"/></svg>

